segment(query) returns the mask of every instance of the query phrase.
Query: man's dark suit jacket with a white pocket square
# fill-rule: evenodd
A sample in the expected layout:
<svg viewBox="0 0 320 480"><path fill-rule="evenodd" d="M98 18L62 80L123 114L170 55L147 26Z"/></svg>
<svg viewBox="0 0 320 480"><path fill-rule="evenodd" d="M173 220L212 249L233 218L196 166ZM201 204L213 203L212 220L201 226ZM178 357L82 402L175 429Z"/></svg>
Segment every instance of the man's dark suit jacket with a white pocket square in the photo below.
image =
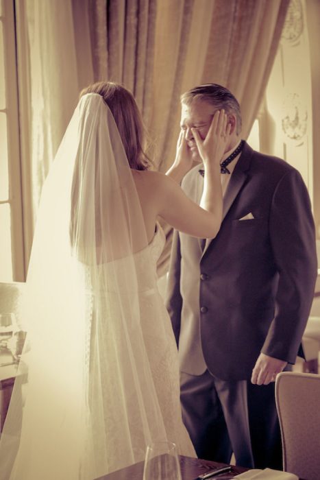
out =
<svg viewBox="0 0 320 480"><path fill-rule="evenodd" d="M199 167L182 183L199 202ZM254 219L240 220L252 213ZM317 276L315 226L299 172L245 144L204 252L174 234L167 307L180 368L249 379L260 352L295 363Z"/></svg>

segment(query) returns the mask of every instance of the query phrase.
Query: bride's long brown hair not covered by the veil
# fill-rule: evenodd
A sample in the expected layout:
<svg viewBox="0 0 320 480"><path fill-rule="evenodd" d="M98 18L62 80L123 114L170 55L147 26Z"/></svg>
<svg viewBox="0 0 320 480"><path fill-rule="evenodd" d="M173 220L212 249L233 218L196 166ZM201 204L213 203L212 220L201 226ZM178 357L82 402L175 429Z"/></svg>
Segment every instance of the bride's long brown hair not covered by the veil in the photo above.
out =
<svg viewBox="0 0 320 480"><path fill-rule="evenodd" d="M127 160L134 170L147 170L151 166L145 153L145 127L143 119L130 91L114 82L97 82L80 93L98 93L110 108L118 127Z"/></svg>

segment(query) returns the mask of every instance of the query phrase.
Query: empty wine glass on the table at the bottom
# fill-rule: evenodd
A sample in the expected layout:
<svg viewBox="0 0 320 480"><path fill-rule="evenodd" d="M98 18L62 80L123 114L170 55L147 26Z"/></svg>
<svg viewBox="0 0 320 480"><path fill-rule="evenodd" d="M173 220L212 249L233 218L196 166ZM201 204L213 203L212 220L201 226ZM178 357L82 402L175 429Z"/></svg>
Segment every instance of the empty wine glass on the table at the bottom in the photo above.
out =
<svg viewBox="0 0 320 480"><path fill-rule="evenodd" d="M171 442L147 446L143 480L182 480L177 447Z"/></svg>

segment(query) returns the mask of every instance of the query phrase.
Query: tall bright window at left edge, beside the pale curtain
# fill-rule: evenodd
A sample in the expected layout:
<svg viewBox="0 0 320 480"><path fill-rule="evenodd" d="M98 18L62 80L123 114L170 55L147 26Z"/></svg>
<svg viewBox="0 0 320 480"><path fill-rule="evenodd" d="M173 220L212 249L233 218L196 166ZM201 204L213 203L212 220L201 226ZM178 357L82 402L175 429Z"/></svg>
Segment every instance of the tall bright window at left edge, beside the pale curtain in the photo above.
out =
<svg viewBox="0 0 320 480"><path fill-rule="evenodd" d="M0 0L0 281L24 280L14 0Z"/></svg>

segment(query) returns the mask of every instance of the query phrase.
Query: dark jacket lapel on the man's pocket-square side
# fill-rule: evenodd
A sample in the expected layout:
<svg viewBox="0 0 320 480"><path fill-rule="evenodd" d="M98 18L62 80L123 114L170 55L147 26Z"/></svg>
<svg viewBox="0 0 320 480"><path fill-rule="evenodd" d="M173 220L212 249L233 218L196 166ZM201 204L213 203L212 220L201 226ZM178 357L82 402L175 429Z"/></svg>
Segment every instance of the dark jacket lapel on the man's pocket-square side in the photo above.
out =
<svg viewBox="0 0 320 480"><path fill-rule="evenodd" d="M245 143L241 156L239 157L238 162L236 163L236 167L234 167L234 171L230 178L230 182L227 185L225 196L223 197L222 221L225 219L225 216L227 215L228 211L230 211L230 208L234 200L236 199L236 196L238 195L239 191L243 187L243 184L247 180L248 170L251 163L251 156L253 152L254 151L251 149L251 147L249 147L249 145ZM212 242L212 240L214 239L206 239L206 246L204 248L204 252L202 253L202 256L206 254L206 251L208 250L208 247Z"/></svg>

